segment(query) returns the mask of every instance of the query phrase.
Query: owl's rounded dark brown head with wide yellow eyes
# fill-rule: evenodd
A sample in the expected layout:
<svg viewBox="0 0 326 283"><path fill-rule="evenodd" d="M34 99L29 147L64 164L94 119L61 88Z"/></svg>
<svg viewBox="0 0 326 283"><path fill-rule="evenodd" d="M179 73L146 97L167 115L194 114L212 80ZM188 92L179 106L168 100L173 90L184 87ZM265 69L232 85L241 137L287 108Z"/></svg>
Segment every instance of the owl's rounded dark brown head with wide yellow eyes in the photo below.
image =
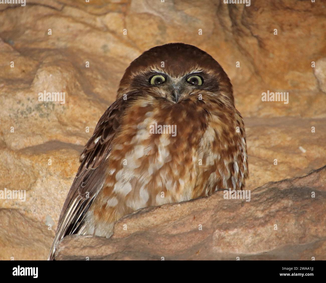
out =
<svg viewBox="0 0 326 283"><path fill-rule="evenodd" d="M230 79L220 64L184 43L156 46L135 59L120 81L118 97L130 91L160 95L170 103L199 94L234 102Z"/></svg>

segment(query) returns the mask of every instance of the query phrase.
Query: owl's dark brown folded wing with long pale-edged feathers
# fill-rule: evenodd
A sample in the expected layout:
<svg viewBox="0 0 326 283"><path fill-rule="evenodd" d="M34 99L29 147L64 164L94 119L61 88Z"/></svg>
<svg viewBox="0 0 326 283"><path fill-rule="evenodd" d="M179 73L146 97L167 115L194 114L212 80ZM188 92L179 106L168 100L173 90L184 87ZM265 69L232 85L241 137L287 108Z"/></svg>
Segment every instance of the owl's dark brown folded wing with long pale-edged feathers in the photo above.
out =
<svg viewBox="0 0 326 283"><path fill-rule="evenodd" d="M133 93L128 93L127 98ZM105 182L104 160L109 156L112 138L119 131L120 116L126 110L126 100L120 97L98 121L93 136L86 143L80 157L77 175L62 208L57 231L48 260L54 259L55 245L66 235L78 233L90 205Z"/></svg>

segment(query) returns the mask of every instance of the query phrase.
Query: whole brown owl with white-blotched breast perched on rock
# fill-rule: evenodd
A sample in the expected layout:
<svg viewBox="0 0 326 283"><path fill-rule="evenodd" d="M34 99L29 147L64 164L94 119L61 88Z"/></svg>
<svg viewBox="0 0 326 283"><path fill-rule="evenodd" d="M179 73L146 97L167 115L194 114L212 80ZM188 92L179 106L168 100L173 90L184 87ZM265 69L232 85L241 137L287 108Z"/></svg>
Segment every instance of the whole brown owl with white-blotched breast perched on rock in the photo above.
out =
<svg viewBox="0 0 326 283"><path fill-rule="evenodd" d="M243 188L245 130L230 79L192 45L145 51L126 69L80 160L50 260L68 234L109 238L114 222L137 209Z"/></svg>

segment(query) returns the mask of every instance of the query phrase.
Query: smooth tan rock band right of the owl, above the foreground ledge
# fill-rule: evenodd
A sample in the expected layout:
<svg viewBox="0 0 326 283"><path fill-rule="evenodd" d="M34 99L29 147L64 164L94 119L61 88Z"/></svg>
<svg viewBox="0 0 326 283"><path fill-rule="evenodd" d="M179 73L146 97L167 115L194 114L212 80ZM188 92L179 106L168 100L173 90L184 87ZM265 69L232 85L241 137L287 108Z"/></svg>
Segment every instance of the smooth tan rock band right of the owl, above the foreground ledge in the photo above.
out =
<svg viewBox="0 0 326 283"><path fill-rule="evenodd" d="M270 181L303 176L325 165L324 119L251 117L245 118L244 124L249 162L248 190ZM312 132L313 129L317 130Z"/></svg>

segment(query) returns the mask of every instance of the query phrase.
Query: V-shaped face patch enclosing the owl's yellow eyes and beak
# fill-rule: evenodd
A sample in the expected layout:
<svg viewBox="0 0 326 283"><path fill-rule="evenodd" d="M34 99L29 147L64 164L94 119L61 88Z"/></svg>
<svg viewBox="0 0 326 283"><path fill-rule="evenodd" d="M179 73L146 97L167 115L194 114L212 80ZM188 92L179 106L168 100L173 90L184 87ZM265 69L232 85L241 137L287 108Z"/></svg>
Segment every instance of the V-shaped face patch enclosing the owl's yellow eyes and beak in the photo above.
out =
<svg viewBox="0 0 326 283"><path fill-rule="evenodd" d="M148 83L160 95L177 103L194 89L200 89L204 79L201 73L191 73L178 78L171 78L164 73L154 73L148 79Z"/></svg>

